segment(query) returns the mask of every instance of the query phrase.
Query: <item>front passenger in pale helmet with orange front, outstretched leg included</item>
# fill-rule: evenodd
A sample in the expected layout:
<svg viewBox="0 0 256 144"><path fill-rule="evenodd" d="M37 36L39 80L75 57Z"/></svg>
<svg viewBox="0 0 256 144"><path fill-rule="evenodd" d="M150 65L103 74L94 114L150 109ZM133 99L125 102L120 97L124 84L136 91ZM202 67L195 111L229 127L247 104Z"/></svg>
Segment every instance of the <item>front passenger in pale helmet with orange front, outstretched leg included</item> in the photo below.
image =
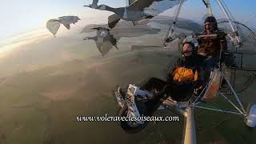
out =
<svg viewBox="0 0 256 144"><path fill-rule="evenodd" d="M167 76L167 81L158 78L150 78L140 87L141 90L149 90L155 93L162 90L167 84L166 94L177 101L186 101L189 96L203 85L203 61L204 56L198 54L193 41L186 38L182 42L182 57L178 58L172 70Z"/></svg>

